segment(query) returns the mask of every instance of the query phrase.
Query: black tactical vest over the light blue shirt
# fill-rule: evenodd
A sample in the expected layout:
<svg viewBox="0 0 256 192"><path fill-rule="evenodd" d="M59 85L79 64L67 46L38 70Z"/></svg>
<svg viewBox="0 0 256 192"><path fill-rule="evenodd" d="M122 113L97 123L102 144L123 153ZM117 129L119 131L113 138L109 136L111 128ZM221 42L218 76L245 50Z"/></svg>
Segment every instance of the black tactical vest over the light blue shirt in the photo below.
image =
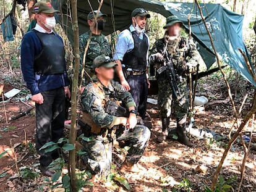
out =
<svg viewBox="0 0 256 192"><path fill-rule="evenodd" d="M124 54L122 64L135 71L145 71L147 67L148 38L144 34L143 40L140 40L136 31L132 32L132 38L134 39L134 49Z"/></svg>

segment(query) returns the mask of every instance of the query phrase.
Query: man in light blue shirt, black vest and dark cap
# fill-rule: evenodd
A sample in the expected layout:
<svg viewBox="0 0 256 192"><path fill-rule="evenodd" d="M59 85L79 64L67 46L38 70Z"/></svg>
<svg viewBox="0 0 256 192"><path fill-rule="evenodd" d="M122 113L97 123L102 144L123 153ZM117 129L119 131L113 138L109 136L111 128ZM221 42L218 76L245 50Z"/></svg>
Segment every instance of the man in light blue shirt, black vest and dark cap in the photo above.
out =
<svg viewBox="0 0 256 192"><path fill-rule="evenodd" d="M148 80L148 49L150 41L145 33L148 11L137 8L132 11L132 25L122 31L116 44L113 59L117 63L116 72L122 86L130 91L136 103L136 109L145 119L147 96L150 82Z"/></svg>

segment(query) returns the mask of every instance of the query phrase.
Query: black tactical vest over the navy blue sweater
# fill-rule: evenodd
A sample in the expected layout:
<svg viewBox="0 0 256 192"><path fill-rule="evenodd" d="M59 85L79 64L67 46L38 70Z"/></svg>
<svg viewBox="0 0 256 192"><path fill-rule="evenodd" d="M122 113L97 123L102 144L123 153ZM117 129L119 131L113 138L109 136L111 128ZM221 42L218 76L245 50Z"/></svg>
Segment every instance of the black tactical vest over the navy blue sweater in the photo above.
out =
<svg viewBox="0 0 256 192"><path fill-rule="evenodd" d="M34 70L41 75L53 75L66 71L65 50L61 39L54 33L33 30L41 41L42 51L35 56Z"/></svg>

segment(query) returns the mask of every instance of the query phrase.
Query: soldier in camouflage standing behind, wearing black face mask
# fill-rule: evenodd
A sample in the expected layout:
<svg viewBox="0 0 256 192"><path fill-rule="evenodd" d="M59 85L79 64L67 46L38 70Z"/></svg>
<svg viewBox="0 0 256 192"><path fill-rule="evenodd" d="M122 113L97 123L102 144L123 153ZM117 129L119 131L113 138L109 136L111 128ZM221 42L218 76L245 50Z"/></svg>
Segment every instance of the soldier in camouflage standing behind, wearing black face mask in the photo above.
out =
<svg viewBox="0 0 256 192"><path fill-rule="evenodd" d="M82 79L82 87L90 83L91 78L95 78L95 73L92 67L93 60L100 55L111 56L111 48L109 45L106 36L101 33L105 27L105 17L106 14L99 12L97 20L95 20L96 14L98 10L94 10L90 12L87 16L87 23L90 26L90 30L79 37L79 50L80 50L80 73L82 71L83 64L83 54L85 52L85 47L87 45L87 41L89 39L90 34L92 33L92 38L90 40L90 44L87 50L87 54L85 56L85 71L90 75L88 77L87 73L84 73ZM80 79L81 80L81 79ZM83 92L83 88L81 93Z"/></svg>

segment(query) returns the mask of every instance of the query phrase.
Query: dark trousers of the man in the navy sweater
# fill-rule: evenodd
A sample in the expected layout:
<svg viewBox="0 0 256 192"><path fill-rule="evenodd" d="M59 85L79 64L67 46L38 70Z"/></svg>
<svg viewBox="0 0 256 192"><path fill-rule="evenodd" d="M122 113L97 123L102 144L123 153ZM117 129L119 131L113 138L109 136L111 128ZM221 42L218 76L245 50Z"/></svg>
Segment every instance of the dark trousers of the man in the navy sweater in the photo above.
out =
<svg viewBox="0 0 256 192"><path fill-rule="evenodd" d="M41 166L48 166L56 157L56 152L39 150L49 141L57 142L63 135L65 119L64 88L43 91L43 104L36 104L36 150L40 154ZM57 152L58 153L58 152Z"/></svg>

